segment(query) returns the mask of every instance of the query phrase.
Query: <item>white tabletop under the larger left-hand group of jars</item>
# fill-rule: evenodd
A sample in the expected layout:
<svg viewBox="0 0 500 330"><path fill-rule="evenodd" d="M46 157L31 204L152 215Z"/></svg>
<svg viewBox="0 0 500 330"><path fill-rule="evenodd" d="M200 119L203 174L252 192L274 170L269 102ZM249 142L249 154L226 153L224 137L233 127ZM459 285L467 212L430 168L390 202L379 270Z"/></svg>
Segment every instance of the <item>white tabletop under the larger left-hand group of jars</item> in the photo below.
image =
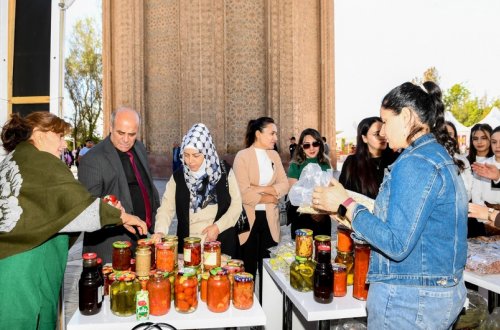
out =
<svg viewBox="0 0 500 330"><path fill-rule="evenodd" d="M196 311L190 314L178 313L175 310L174 302L170 306L170 311L163 316L149 316L149 322L166 322L177 329L208 329L208 328L229 328L229 327L249 327L266 324L266 315L259 305L259 300L254 296L254 304L248 310L239 310L232 305L224 313L213 313L207 308L207 304L199 301ZM68 330L91 329L132 329L135 325L145 322L137 321L135 315L129 317L119 317L111 313L109 308L109 297L105 297L101 311L96 315L84 316L77 310L66 326Z"/></svg>

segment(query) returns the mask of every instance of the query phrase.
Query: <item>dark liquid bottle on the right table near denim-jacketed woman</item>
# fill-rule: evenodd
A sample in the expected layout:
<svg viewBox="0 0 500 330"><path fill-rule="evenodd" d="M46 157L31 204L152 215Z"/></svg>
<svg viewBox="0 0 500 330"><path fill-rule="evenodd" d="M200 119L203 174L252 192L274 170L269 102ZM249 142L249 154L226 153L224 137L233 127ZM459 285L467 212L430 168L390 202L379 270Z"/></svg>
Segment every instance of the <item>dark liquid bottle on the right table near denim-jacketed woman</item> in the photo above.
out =
<svg viewBox="0 0 500 330"><path fill-rule="evenodd" d="M314 300L327 304L333 300L333 268L331 248L328 245L318 247L318 263L314 270Z"/></svg>

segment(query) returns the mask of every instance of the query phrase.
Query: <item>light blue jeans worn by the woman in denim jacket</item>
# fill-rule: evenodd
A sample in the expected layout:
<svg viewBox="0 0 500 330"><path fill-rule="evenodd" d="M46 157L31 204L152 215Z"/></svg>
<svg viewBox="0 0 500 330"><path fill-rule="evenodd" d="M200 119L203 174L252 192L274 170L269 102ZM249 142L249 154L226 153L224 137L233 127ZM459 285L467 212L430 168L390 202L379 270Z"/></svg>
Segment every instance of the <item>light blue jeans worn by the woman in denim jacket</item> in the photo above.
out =
<svg viewBox="0 0 500 330"><path fill-rule="evenodd" d="M463 279L446 288L370 283L368 329L450 329L466 294Z"/></svg>

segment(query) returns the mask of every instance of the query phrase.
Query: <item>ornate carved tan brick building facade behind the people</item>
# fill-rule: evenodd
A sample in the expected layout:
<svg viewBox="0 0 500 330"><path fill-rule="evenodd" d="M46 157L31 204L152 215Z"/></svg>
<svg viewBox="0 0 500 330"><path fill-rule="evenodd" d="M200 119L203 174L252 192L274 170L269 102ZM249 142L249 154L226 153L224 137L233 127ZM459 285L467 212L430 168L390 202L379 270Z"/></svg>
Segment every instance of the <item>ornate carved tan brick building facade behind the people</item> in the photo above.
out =
<svg viewBox="0 0 500 330"><path fill-rule="evenodd" d="M277 121L284 158L307 127L333 151L333 40L332 0L103 0L104 131L112 109L137 109L158 176L196 122L221 155L260 116Z"/></svg>

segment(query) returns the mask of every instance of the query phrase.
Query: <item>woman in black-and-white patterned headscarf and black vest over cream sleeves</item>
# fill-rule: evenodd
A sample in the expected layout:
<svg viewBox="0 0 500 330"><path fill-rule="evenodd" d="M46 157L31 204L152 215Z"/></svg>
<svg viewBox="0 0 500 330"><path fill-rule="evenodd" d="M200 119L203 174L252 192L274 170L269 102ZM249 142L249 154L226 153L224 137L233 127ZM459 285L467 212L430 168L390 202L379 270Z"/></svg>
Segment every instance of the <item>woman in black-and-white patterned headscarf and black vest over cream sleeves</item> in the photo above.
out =
<svg viewBox="0 0 500 330"><path fill-rule="evenodd" d="M155 235L168 233L177 214L177 236L182 251L185 237L220 241L222 253L236 257L239 250L234 224L242 204L230 166L219 159L210 131L195 124L182 139L182 166L167 182L156 214Z"/></svg>

